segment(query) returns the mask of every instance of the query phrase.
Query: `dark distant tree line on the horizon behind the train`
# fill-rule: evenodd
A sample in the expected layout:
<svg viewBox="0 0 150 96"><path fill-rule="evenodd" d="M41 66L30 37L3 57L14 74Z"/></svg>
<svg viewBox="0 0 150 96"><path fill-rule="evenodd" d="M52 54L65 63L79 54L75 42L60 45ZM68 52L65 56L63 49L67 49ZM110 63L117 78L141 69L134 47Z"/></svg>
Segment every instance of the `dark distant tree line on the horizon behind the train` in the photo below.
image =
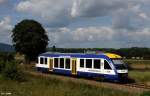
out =
<svg viewBox="0 0 150 96"><path fill-rule="evenodd" d="M116 53L127 59L150 59L150 48L132 47L132 48L48 48L51 52L61 53L88 53L88 52L110 52Z"/></svg>

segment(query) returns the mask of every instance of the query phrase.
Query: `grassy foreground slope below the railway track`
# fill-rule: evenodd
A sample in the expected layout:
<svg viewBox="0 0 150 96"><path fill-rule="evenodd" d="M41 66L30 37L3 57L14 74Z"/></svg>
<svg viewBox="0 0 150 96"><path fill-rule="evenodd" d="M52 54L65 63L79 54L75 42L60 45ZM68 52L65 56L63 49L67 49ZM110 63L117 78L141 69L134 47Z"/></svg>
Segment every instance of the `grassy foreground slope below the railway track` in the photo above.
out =
<svg viewBox="0 0 150 96"><path fill-rule="evenodd" d="M11 96L139 96L139 94L73 81L64 82L59 79L30 75L26 77L25 82L4 80L0 77L0 92L11 92Z"/></svg>

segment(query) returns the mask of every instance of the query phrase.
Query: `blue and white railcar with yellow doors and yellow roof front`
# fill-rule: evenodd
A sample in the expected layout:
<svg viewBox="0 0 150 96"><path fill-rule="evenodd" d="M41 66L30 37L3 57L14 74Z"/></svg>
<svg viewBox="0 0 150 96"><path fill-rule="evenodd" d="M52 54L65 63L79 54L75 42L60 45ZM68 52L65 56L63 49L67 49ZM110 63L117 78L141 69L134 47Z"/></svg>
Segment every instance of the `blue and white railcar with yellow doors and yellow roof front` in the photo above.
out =
<svg viewBox="0 0 150 96"><path fill-rule="evenodd" d="M69 76L103 78L111 81L128 79L128 67L120 55L114 53L42 53L36 68Z"/></svg>

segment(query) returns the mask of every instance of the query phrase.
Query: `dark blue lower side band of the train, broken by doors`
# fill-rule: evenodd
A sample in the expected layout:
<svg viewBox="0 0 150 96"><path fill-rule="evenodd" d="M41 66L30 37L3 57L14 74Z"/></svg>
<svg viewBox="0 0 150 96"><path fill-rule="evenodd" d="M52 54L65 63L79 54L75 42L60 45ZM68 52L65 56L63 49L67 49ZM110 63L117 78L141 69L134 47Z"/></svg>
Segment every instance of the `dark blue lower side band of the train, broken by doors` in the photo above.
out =
<svg viewBox="0 0 150 96"><path fill-rule="evenodd" d="M48 72L48 68L42 68L42 67L37 67L38 71L41 72ZM63 69L53 69L54 73L59 73L59 74L64 74L64 75L71 75L71 70L63 70ZM90 73L90 72L81 72L77 71L78 76L82 77L99 77L99 78L105 78L108 80L119 80L118 75L108 75L108 74L98 74L98 73Z"/></svg>

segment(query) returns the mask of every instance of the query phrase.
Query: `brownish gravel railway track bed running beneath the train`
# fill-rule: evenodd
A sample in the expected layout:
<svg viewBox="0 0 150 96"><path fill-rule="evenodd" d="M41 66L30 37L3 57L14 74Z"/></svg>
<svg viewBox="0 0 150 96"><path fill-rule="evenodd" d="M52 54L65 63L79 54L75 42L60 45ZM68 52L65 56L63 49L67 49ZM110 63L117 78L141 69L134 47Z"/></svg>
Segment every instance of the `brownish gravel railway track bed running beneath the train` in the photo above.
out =
<svg viewBox="0 0 150 96"><path fill-rule="evenodd" d="M124 90L132 93L142 93L144 91L150 91L150 86L146 86L145 84L138 84L138 83L128 83L128 84L120 84L120 83L111 83L111 82L100 82L96 80L89 80L85 78L74 78L56 74L45 74L35 71L25 71L33 76L42 76L42 77L49 77L55 78L62 81L72 81L74 83L85 83L92 86L103 87L103 88L111 88L117 90Z"/></svg>

